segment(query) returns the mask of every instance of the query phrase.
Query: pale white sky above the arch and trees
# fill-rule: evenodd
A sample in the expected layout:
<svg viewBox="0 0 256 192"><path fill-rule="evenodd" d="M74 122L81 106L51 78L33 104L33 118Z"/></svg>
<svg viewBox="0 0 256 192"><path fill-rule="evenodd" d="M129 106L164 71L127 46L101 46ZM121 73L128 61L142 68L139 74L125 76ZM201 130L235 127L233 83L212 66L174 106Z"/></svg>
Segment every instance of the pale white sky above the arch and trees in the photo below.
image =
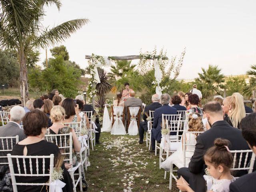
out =
<svg viewBox="0 0 256 192"><path fill-rule="evenodd" d="M244 74L256 64L255 0L62 0L60 11L47 7L42 24L56 26L76 18L86 26L58 45L70 60L88 66L85 55L138 55L160 51L180 55L179 79L198 77L201 68L218 65L225 75ZM50 57L50 46L48 57ZM45 50L40 50L41 64ZM137 63L134 60L133 63Z"/></svg>

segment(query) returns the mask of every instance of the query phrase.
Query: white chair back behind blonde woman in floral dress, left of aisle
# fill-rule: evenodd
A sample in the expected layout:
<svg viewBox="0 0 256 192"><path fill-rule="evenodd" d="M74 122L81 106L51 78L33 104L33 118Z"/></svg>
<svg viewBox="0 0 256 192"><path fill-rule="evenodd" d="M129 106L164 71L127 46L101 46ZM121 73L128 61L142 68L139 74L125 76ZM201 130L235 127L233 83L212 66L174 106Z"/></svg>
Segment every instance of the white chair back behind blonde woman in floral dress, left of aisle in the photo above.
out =
<svg viewBox="0 0 256 192"><path fill-rule="evenodd" d="M45 135L44 140L54 143L60 149L62 155L65 156L64 162L73 164L72 161L72 132L68 134L51 134ZM69 144L68 144L69 141Z"/></svg>

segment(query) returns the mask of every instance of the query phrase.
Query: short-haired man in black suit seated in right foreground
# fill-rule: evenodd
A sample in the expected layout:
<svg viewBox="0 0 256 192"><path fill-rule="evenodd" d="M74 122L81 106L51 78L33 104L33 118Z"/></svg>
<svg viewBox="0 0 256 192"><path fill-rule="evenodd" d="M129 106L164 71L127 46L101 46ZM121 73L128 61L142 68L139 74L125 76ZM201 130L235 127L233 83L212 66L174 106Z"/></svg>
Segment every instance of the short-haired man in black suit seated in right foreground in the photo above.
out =
<svg viewBox="0 0 256 192"><path fill-rule="evenodd" d="M205 180L203 175L204 154L208 148L214 145L216 138L227 139L230 141L230 150L247 150L249 149L246 140L242 137L241 130L230 126L223 120L223 111L219 102L208 102L204 106L206 118L211 126L209 130L196 137L196 148L194 155L190 159L188 168L183 167L178 170L178 176L182 176L196 192L205 192ZM241 176L245 172L237 172L236 176Z"/></svg>

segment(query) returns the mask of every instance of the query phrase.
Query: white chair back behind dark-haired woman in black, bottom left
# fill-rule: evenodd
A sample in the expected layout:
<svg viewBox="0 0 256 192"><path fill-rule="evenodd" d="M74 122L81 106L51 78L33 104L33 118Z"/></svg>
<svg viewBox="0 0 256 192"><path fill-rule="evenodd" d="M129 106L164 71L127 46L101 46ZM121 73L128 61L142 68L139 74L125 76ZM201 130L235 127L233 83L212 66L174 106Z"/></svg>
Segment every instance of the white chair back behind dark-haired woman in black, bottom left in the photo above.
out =
<svg viewBox="0 0 256 192"><path fill-rule="evenodd" d="M50 156L18 156L7 154L8 164L10 168L10 174L12 178L12 188L14 192L18 192L17 185L23 186L50 186L52 182L52 173L54 167L54 154ZM46 168L46 160L50 161L50 170ZM15 162L15 165L13 164ZM42 163L41 163L42 162ZM17 165L18 173L14 172L14 166ZM32 171L32 168L36 168L36 171ZM17 183L16 176L25 177L42 177L49 176L49 182L46 183Z"/></svg>

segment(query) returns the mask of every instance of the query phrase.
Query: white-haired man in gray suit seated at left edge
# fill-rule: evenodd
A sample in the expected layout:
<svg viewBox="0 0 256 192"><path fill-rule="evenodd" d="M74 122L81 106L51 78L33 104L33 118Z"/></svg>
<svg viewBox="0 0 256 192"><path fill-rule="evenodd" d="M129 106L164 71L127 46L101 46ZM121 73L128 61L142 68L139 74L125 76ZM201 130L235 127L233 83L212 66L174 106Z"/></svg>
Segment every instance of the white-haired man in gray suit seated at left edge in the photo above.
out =
<svg viewBox="0 0 256 192"><path fill-rule="evenodd" d="M20 123L22 121L22 118L25 116L25 110L21 106L14 106L10 110L9 119L10 121L0 127L0 137L13 137L18 135L19 141L26 138L26 136L23 133L23 129L20 126ZM12 140L12 146L16 144L16 139ZM11 143L8 143L9 149L11 148ZM2 149L2 143L0 142L0 149ZM4 149L7 149L6 140L4 140ZM0 152L0 156L7 156L8 153L11 153L10 151L7 152ZM0 162L8 162L7 158L0 158ZM0 166L2 167L2 166ZM9 169L6 171L6 173L10 172Z"/></svg>

